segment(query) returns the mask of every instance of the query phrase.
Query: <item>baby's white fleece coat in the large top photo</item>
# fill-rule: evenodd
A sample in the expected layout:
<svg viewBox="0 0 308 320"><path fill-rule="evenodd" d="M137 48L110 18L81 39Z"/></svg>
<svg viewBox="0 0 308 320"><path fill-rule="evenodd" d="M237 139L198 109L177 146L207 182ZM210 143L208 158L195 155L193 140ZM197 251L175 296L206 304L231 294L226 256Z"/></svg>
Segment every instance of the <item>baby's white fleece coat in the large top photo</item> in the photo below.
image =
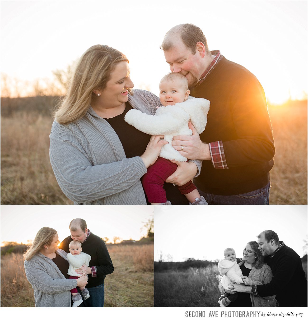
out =
<svg viewBox="0 0 308 320"><path fill-rule="evenodd" d="M136 129L151 135L164 135L168 144L162 146L159 156L168 160L187 161L177 150L172 147L172 138L178 135L192 135L188 127L191 120L196 131L200 134L207 123L207 114L210 101L203 98L188 97L184 102L174 106L159 107L154 116L150 116L136 109L129 110L125 121Z"/></svg>

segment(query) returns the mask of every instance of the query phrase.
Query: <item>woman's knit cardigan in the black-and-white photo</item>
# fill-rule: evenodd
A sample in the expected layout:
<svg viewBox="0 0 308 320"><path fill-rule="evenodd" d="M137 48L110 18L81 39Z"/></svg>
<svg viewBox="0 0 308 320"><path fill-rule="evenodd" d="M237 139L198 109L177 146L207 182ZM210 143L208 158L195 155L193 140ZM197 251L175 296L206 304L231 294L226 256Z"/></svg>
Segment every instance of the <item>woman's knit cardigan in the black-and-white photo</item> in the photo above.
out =
<svg viewBox="0 0 308 320"><path fill-rule="evenodd" d="M238 264L238 266L240 267L244 262L245 261L241 261ZM248 278L252 280L252 284L267 284L272 280L273 273L271 268L267 264L265 264L260 269L256 269L255 267L252 267L251 271L249 272ZM221 285L221 282L219 282L218 289L222 294L225 294L225 290ZM268 308L269 300L273 300L275 297L276 295L269 296L269 297L255 297L252 294L250 294L252 307L258 307L258 308Z"/></svg>

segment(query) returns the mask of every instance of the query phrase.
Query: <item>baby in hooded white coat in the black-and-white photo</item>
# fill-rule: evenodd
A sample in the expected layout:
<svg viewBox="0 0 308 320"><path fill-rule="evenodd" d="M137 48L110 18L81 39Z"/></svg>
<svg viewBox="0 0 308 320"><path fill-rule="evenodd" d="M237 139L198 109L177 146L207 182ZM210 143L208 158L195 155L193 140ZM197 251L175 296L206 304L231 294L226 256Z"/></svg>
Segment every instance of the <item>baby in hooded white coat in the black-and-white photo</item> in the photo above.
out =
<svg viewBox="0 0 308 320"><path fill-rule="evenodd" d="M238 264L236 263L236 253L234 249L227 248L224 251L225 259L219 260L218 262L218 270L220 274L223 276L221 279L221 285L226 289L228 289L228 284L231 281L236 282L237 284L243 283L242 280L242 271ZM227 297L228 296L228 297ZM238 293L230 294L230 295L222 295L220 296L218 303L220 307L227 307L231 302L237 299Z"/></svg>

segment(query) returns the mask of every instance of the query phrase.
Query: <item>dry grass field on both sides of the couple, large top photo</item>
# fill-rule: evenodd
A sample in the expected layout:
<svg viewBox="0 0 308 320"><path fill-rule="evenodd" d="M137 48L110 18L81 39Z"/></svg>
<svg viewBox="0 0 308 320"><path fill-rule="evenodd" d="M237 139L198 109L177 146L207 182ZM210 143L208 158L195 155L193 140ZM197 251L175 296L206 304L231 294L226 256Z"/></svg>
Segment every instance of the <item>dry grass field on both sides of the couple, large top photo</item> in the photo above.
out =
<svg viewBox="0 0 308 320"><path fill-rule="evenodd" d="M307 101L269 106L276 155L270 204L307 204ZM72 204L49 162L52 119L1 117L1 204Z"/></svg>

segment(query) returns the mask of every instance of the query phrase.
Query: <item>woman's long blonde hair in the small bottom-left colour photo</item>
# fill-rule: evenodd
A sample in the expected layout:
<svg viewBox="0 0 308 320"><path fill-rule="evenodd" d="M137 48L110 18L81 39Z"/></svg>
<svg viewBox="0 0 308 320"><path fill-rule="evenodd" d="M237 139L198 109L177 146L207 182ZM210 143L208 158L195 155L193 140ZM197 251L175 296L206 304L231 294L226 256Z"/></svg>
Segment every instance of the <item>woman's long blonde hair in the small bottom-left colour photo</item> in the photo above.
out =
<svg viewBox="0 0 308 320"><path fill-rule="evenodd" d="M30 260L44 247L44 245L50 245L56 233L57 231L53 228L43 227L39 229L39 232L33 240L33 244L27 248L27 251L23 255L25 260Z"/></svg>

